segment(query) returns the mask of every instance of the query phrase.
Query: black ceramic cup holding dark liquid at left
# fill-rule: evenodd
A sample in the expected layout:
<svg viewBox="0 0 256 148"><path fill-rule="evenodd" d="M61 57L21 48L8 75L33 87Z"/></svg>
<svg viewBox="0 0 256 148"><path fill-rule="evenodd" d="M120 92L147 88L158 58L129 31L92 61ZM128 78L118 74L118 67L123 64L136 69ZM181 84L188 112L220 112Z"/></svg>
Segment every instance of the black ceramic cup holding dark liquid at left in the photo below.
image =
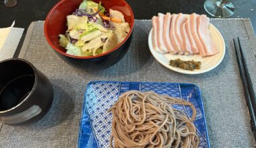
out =
<svg viewBox="0 0 256 148"><path fill-rule="evenodd" d="M0 122L13 126L38 121L53 103L47 77L23 59L0 62Z"/></svg>

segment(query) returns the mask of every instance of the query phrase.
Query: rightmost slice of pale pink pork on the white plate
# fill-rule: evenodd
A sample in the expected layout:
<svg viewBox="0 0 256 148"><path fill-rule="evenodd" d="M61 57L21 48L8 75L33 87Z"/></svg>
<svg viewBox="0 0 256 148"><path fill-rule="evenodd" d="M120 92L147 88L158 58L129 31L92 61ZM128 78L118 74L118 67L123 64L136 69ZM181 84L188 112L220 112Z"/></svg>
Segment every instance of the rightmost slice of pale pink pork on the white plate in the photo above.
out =
<svg viewBox="0 0 256 148"><path fill-rule="evenodd" d="M197 17L197 24L198 24L198 35L201 40L201 44L204 49L204 55L210 56L217 54L219 51L216 48L214 42L212 42L209 26L210 26L210 19L206 15L200 15Z"/></svg>

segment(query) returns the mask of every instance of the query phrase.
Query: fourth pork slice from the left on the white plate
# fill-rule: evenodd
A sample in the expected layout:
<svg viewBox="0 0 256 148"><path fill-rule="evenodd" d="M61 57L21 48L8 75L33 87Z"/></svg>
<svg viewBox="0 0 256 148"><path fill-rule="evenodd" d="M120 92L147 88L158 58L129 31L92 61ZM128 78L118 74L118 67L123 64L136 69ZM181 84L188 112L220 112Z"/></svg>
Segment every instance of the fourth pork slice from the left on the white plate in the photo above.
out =
<svg viewBox="0 0 256 148"><path fill-rule="evenodd" d="M181 46L179 44L179 41L177 39L177 36L175 34L175 22L177 20L178 15L172 14L171 20L170 20L170 42L172 43L174 50L179 53L183 54L183 50L181 50Z"/></svg>

